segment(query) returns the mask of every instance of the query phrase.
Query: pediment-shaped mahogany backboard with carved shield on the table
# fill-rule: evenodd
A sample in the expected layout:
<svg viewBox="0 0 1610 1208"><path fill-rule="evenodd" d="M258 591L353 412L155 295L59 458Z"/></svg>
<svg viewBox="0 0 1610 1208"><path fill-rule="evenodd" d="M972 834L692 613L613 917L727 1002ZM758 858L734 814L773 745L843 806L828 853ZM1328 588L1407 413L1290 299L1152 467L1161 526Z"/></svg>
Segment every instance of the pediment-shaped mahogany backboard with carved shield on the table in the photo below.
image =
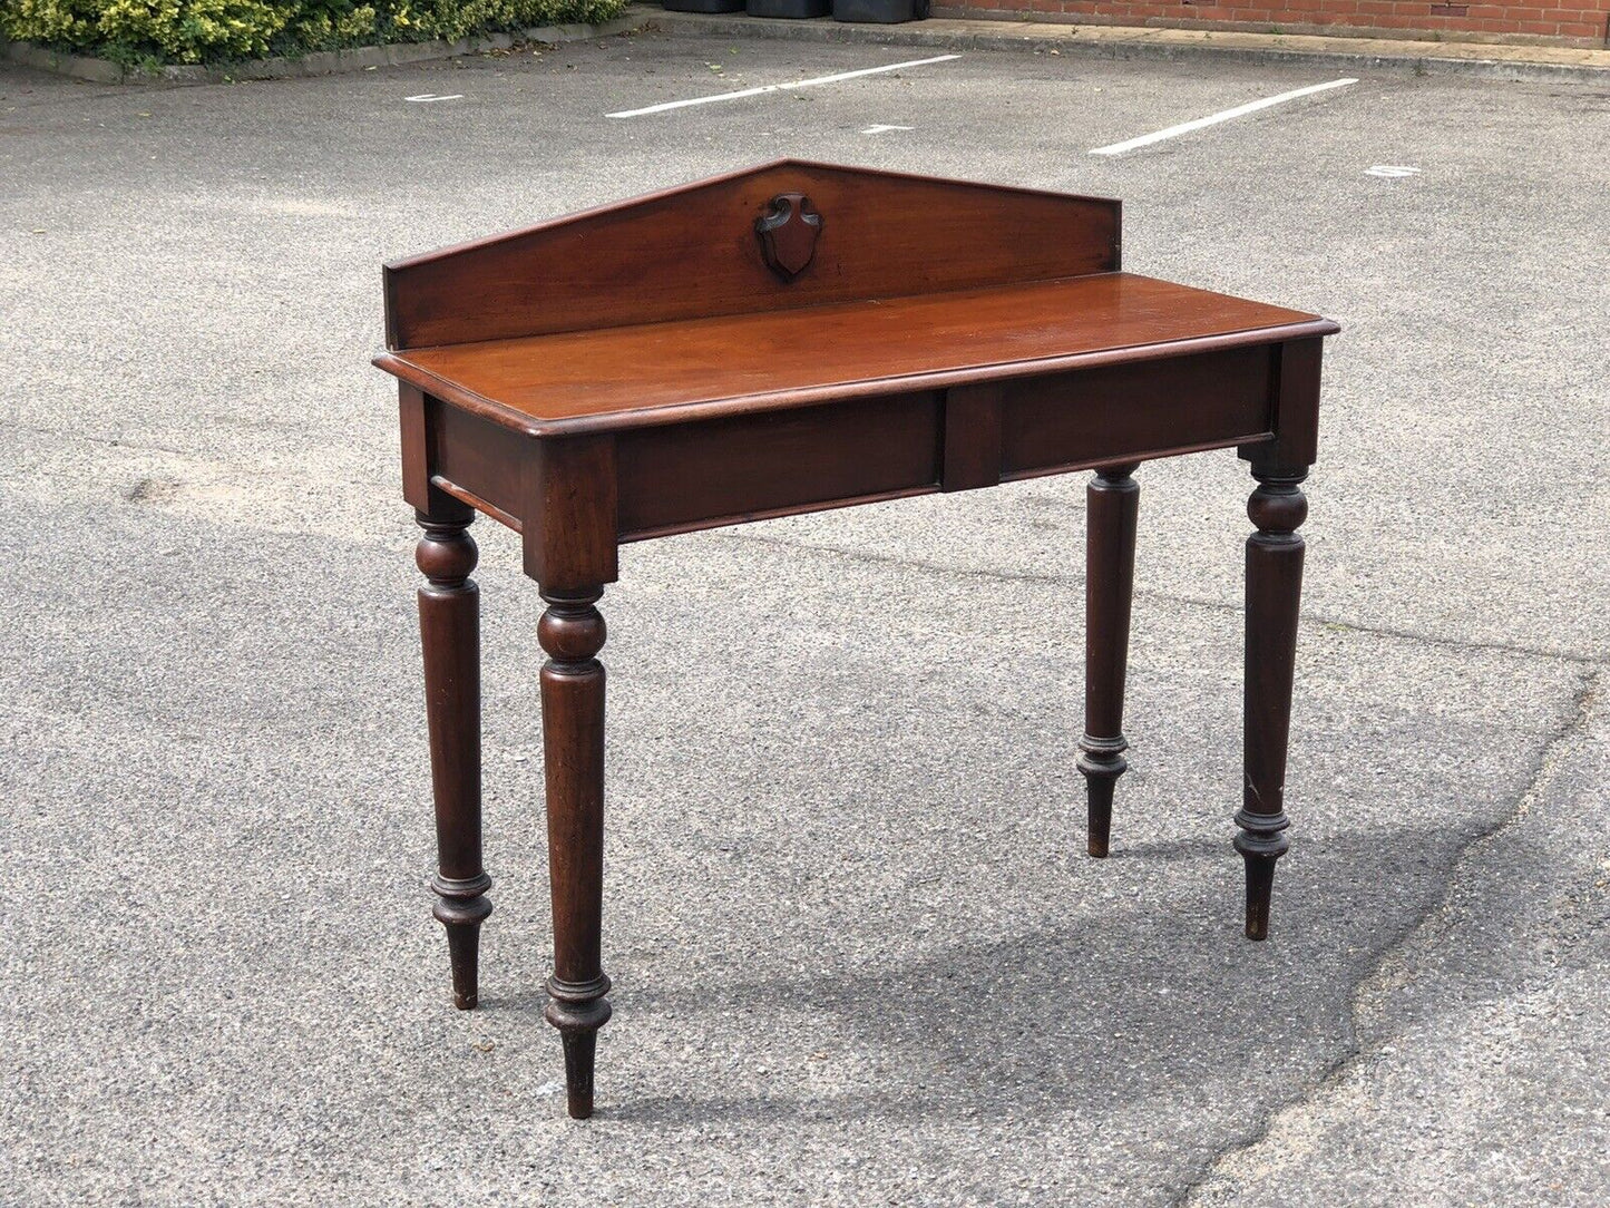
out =
<svg viewBox="0 0 1610 1208"><path fill-rule="evenodd" d="M784 159L388 264L386 345L1113 272L1119 227L1104 198Z"/></svg>

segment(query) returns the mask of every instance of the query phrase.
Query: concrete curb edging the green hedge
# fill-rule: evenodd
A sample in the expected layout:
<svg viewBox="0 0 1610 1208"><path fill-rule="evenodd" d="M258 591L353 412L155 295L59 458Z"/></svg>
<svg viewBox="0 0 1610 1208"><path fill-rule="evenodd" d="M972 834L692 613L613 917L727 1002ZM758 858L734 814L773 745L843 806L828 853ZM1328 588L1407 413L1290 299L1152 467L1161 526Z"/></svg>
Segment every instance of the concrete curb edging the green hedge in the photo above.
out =
<svg viewBox="0 0 1610 1208"><path fill-rule="evenodd" d="M126 68L103 58L68 55L58 50L35 47L32 42L8 42L5 58L58 76L72 76L95 84L229 84L242 79L296 79L306 76L335 76L345 71L369 68L393 68L404 63L480 55L488 50L507 50L518 42L584 42L591 37L625 34L642 27L650 10L633 10L596 26L535 26L517 34L488 34L464 37L457 42L398 42L390 47L353 47L351 50L319 50L299 58L259 58L227 66L166 66L155 72Z"/></svg>

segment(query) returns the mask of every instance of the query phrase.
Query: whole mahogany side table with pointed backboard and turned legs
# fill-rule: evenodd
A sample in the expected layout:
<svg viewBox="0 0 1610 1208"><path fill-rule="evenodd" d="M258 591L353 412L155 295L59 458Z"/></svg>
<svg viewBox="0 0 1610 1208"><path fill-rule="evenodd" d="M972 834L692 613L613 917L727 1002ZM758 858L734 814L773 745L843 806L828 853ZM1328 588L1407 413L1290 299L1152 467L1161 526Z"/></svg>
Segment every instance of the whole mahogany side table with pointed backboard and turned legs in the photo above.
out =
<svg viewBox="0 0 1610 1208"><path fill-rule="evenodd" d="M1095 469L1085 733L1090 855L1127 768L1141 461L1236 446L1248 503L1246 934L1275 860L1320 343L1336 324L1119 271L1119 203L781 161L386 266L417 561L454 1002L477 1003L480 622L467 527L522 535L538 639L554 976L568 1110L592 1111L610 983L604 618L623 541Z"/></svg>

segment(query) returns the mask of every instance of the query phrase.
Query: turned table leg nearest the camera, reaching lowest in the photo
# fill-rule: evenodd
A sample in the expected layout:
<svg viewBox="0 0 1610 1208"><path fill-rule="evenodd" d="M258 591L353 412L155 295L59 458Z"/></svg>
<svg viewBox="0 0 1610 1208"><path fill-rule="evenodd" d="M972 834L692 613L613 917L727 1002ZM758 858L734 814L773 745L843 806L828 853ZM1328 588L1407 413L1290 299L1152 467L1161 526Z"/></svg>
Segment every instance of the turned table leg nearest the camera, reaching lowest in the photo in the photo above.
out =
<svg viewBox="0 0 1610 1208"><path fill-rule="evenodd" d="M599 945L604 910L604 617L601 588L544 591L538 636L547 781L547 868L554 897L554 976L547 1021L565 1047L567 1107L592 1115L597 1031L610 1016Z"/></svg>

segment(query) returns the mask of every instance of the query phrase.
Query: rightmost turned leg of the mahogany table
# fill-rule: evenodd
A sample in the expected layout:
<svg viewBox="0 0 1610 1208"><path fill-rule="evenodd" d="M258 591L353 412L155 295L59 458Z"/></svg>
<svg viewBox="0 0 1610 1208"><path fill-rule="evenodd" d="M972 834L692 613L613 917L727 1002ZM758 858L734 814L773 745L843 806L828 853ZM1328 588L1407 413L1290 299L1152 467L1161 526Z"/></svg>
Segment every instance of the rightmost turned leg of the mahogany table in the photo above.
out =
<svg viewBox="0 0 1610 1208"><path fill-rule="evenodd" d="M1296 530L1307 519L1299 486L1307 467L1253 462L1253 477L1257 490L1246 514L1257 532L1246 540L1246 767L1235 847L1246 860L1248 939L1267 939L1275 860L1290 844L1286 738L1302 594L1302 538Z"/></svg>

